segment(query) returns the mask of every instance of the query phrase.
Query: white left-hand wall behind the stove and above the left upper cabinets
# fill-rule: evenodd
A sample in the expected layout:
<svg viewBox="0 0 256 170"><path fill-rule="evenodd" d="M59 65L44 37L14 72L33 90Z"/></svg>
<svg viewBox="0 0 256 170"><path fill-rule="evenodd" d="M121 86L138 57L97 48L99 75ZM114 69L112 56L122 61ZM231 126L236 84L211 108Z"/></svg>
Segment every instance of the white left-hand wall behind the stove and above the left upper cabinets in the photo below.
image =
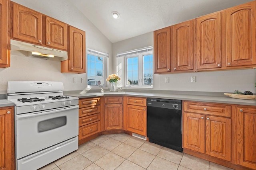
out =
<svg viewBox="0 0 256 170"><path fill-rule="evenodd" d="M13 1L86 31L86 49L89 47L112 56L112 43L70 2L65 0ZM82 77L87 80L87 74L60 73L60 62L57 61L11 55L10 64L9 68L0 68L0 94L6 93L7 81L15 80L62 81L64 90L83 90L87 87L87 81L81 83ZM112 67L109 68L108 72L112 72ZM77 83L72 82L73 77L77 78Z"/></svg>

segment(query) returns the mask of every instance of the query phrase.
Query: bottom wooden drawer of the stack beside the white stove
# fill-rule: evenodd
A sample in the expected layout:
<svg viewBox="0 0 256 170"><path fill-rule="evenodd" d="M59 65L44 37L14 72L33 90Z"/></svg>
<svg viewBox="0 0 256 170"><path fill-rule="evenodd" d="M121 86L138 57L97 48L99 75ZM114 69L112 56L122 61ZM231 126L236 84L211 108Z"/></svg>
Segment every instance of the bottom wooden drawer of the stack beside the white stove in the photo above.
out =
<svg viewBox="0 0 256 170"><path fill-rule="evenodd" d="M79 127L78 139L81 140L99 132L100 132L100 121L97 121L95 123L91 123L89 125Z"/></svg>

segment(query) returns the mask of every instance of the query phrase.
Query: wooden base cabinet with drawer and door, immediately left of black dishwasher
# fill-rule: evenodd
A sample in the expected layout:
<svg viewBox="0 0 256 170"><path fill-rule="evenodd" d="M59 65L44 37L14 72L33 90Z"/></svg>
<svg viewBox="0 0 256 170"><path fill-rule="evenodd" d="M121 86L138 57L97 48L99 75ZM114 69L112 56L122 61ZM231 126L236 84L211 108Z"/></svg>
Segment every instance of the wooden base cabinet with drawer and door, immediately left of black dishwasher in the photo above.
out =
<svg viewBox="0 0 256 170"><path fill-rule="evenodd" d="M146 98L124 97L125 130L146 136Z"/></svg>

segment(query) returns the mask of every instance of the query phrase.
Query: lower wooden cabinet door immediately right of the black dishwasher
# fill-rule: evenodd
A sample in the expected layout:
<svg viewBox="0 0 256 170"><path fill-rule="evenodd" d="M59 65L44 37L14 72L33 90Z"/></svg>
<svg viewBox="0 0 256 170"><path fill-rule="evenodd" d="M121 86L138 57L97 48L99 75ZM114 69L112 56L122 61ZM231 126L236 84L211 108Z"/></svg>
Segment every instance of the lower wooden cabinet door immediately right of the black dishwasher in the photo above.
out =
<svg viewBox="0 0 256 170"><path fill-rule="evenodd" d="M204 115L183 114L183 148L205 152L205 121Z"/></svg>

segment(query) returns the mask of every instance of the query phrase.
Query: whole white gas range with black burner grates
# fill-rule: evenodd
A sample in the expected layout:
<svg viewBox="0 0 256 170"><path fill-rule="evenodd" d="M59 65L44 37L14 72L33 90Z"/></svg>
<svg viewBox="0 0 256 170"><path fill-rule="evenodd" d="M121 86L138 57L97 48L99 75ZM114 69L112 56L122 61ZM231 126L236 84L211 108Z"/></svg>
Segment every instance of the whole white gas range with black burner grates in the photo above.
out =
<svg viewBox="0 0 256 170"><path fill-rule="evenodd" d="M9 81L17 170L36 170L78 149L78 98L62 82Z"/></svg>

